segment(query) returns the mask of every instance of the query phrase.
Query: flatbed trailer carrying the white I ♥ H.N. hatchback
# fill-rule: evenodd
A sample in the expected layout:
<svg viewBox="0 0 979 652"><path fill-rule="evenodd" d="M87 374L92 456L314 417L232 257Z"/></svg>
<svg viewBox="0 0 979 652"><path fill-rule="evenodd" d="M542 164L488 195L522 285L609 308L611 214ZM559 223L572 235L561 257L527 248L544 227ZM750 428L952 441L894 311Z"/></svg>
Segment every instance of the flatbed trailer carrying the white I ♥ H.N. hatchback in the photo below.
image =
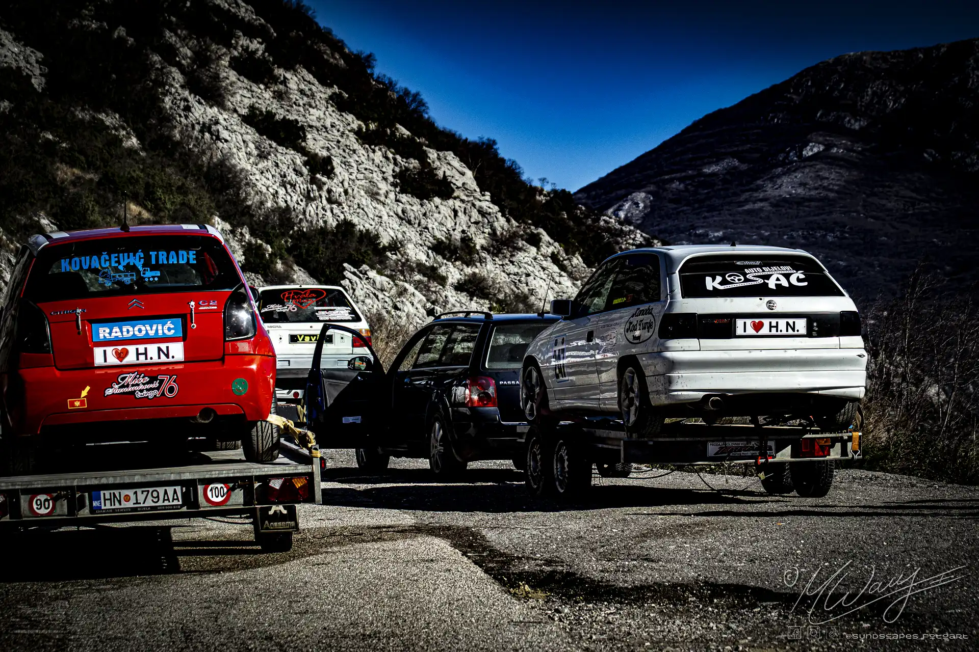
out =
<svg viewBox="0 0 979 652"><path fill-rule="evenodd" d="M751 464L769 494L795 491L821 498L839 460L859 459L861 433L825 432L809 425L674 421L649 438L634 437L622 420L586 417L534 425L525 435L527 486L535 495L580 496L591 465L604 477L629 476L634 463L673 466ZM794 469L794 479L793 479Z"/></svg>

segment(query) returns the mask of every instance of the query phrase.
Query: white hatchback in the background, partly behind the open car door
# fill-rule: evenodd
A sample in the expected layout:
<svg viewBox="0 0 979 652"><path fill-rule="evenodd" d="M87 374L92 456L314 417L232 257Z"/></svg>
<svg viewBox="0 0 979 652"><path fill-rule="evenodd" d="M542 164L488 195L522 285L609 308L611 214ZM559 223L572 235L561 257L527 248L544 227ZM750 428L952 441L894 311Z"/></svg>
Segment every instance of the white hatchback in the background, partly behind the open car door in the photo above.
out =
<svg viewBox="0 0 979 652"><path fill-rule="evenodd" d="M276 398L293 402L303 397L313 350L324 323L337 323L360 332L326 333L322 369L347 369L353 356L369 356L370 326L343 287L336 285L268 285L258 288L261 321L275 348Z"/></svg>

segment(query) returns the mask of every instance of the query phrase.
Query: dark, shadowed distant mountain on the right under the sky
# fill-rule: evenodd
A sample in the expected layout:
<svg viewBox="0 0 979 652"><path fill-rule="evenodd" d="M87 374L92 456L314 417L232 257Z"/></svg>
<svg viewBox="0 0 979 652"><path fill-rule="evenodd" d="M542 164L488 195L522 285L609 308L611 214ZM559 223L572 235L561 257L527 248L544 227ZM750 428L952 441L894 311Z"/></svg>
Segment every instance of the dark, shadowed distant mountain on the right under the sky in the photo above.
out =
<svg viewBox="0 0 979 652"><path fill-rule="evenodd" d="M979 279L979 39L863 52L704 116L575 198L680 242L808 249L855 294Z"/></svg>

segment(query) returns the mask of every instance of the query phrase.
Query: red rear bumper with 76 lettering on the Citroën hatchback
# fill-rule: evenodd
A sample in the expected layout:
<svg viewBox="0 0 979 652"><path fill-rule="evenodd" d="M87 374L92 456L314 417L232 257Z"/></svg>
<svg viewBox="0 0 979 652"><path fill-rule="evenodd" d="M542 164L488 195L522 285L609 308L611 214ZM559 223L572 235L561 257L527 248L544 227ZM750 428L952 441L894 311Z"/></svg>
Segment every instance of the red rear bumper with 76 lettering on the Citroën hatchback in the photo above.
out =
<svg viewBox="0 0 979 652"><path fill-rule="evenodd" d="M132 373L136 378L127 379ZM20 369L12 380L4 398L19 435L38 434L43 426L191 417L204 408L257 421L271 408L275 359L229 355L166 366L42 367Z"/></svg>

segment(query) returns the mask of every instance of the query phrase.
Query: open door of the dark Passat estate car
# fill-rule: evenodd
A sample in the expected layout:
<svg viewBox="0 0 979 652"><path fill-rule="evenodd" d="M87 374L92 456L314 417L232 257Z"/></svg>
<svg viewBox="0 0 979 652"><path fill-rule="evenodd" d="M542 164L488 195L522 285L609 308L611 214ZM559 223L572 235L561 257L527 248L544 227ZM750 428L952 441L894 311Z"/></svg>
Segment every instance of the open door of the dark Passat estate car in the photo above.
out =
<svg viewBox="0 0 979 652"><path fill-rule="evenodd" d="M321 449L353 449L374 445L388 413L384 392L385 372L370 344L370 357L350 358L347 369L323 369L323 341L328 330L344 330L354 337L360 332L347 326L324 324L319 331L312 366L306 376L306 427L316 435Z"/></svg>

